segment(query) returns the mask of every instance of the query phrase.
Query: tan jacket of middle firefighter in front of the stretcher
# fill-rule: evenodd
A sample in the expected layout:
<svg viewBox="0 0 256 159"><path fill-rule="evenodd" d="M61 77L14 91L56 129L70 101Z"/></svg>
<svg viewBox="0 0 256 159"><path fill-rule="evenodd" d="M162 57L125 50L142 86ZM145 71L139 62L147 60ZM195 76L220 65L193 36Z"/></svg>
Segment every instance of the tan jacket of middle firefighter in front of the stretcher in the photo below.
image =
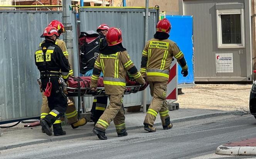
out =
<svg viewBox="0 0 256 159"><path fill-rule="evenodd" d="M131 71L133 70L133 71ZM93 75L91 76L91 88L97 87L99 75L103 72L103 83L106 94L118 95L123 94L126 86L126 72L131 75L140 84L144 84L145 80L130 60L127 51L120 51L113 54L100 53L95 61Z"/></svg>

